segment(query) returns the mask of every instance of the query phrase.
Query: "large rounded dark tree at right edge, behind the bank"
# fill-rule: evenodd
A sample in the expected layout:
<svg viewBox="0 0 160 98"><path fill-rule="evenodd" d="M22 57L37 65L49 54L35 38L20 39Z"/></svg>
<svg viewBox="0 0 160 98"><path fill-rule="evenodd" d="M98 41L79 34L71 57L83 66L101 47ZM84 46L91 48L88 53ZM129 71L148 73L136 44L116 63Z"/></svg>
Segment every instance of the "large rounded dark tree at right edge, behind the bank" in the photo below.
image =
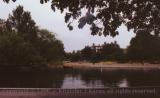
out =
<svg viewBox="0 0 160 98"><path fill-rule="evenodd" d="M129 60L160 62L160 37L140 31L130 44L127 51Z"/></svg>

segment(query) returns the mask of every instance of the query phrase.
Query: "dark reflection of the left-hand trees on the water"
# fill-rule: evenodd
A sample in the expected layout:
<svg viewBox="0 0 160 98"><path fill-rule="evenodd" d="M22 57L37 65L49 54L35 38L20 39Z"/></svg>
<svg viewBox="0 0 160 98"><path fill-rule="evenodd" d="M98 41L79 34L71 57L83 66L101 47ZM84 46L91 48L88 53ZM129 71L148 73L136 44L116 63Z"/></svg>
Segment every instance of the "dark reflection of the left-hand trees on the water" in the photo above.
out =
<svg viewBox="0 0 160 98"><path fill-rule="evenodd" d="M0 87L60 88L64 73L61 69L44 72L1 72Z"/></svg>

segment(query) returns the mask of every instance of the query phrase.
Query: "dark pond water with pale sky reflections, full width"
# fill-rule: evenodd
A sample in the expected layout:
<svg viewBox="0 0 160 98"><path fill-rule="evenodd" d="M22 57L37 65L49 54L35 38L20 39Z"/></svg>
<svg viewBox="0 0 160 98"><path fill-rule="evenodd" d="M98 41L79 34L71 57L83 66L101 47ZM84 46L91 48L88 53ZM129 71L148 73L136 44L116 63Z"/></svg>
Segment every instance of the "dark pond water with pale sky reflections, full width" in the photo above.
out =
<svg viewBox="0 0 160 98"><path fill-rule="evenodd" d="M55 69L0 72L4 88L105 88L160 86L160 70Z"/></svg>

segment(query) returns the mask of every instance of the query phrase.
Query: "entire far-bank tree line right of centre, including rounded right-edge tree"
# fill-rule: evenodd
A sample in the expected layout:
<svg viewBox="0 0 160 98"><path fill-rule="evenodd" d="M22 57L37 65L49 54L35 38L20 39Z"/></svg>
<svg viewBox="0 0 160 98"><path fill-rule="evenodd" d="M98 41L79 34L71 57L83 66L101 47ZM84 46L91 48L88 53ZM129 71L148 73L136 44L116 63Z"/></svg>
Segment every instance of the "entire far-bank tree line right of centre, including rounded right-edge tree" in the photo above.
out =
<svg viewBox="0 0 160 98"><path fill-rule="evenodd" d="M94 48L98 47L98 49ZM145 31L139 31L130 41L126 49L114 43L104 43L101 46L86 46L84 49L66 53L70 61L116 61L160 63L160 37Z"/></svg>

